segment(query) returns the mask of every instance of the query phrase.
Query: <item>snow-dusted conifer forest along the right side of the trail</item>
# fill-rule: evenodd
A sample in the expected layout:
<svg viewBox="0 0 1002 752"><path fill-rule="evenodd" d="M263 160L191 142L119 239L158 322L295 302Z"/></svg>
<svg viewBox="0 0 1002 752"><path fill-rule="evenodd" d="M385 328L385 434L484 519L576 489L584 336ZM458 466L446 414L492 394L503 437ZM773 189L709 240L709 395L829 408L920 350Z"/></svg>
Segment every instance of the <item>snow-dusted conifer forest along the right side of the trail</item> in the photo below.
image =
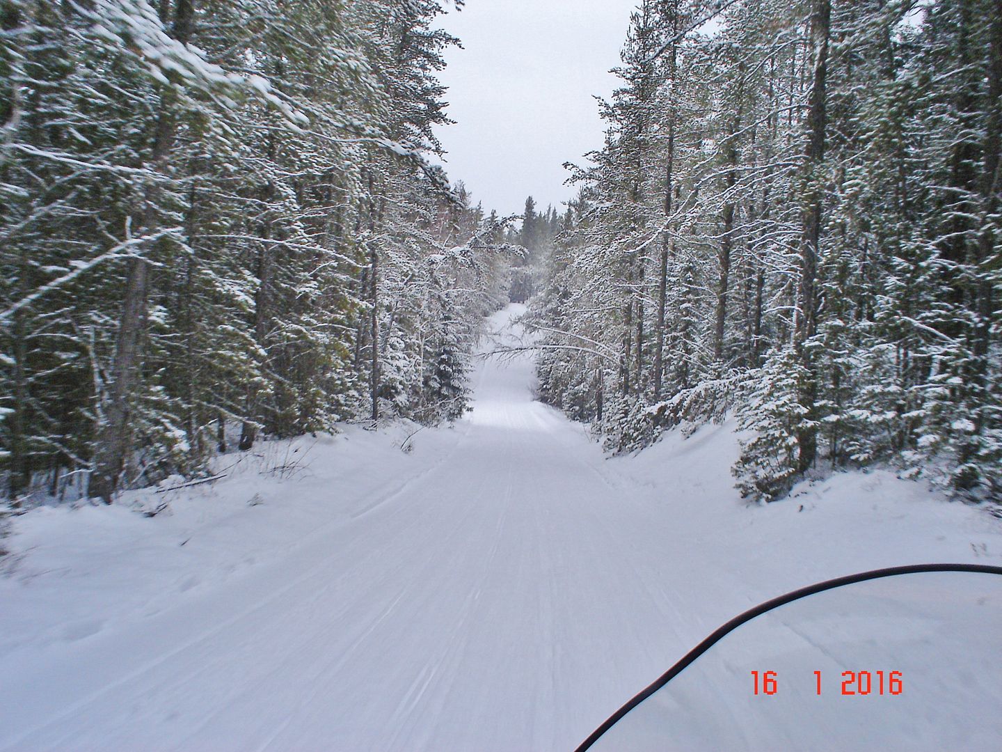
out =
<svg viewBox="0 0 1002 752"><path fill-rule="evenodd" d="M537 264L543 398L620 452L735 414L750 498L999 498L999 4L644 0L617 73Z"/></svg>

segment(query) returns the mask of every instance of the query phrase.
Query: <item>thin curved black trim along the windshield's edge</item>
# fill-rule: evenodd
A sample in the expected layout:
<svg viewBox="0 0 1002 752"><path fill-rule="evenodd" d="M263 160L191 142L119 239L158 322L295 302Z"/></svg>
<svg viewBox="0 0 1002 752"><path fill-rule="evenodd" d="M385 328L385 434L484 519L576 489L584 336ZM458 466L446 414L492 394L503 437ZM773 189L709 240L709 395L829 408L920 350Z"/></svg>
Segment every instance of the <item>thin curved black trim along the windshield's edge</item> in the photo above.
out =
<svg viewBox="0 0 1002 752"><path fill-rule="evenodd" d="M674 666L668 669L664 674L662 674L658 679L647 687L645 690L636 695L632 700L623 705L619 710L617 710L605 723L599 726L595 732L589 736L584 742L581 743L575 752L584 752L592 744L598 741L598 738L608 731L610 728L616 725L623 716L629 713L633 708L642 703L648 697L653 695L659 689L661 689L665 684L674 679L678 674L685 670L685 668L695 661L699 656L709 650L716 642L725 637L728 633L733 632L735 629L740 627L745 622L749 622L756 617L761 617L763 614L773 611L773 609L778 609L781 606L785 606L793 601L798 601L807 596L813 596L816 593L822 593L824 591L830 591L833 588L840 588L844 585L852 585L854 583L865 583L868 580L879 580L880 578L890 578L898 575L920 575L926 572L973 572L981 573L985 575L999 575L1002 576L1002 567L991 567L988 565L911 565L908 567L890 567L885 570L872 570L871 572L863 572L859 575L848 575L846 577L836 578L835 580L827 580L824 583L818 583L817 585L812 585L807 588L801 588L800 590L788 593L785 596L780 596L779 598L774 598L772 601L767 601L764 604L756 606L754 609L748 609L740 616L734 617L725 625L720 627L718 630L713 632L709 637L695 646L692 650L685 654L685 656Z"/></svg>

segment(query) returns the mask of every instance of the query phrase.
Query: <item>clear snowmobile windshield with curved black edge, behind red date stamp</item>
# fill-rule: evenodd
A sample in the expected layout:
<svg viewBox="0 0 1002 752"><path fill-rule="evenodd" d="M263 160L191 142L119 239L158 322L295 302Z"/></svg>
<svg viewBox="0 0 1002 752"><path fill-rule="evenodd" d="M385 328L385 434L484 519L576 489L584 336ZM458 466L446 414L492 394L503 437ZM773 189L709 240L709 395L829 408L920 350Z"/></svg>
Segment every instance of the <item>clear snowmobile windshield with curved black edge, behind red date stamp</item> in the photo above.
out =
<svg viewBox="0 0 1002 752"><path fill-rule="evenodd" d="M1002 749L1000 708L1002 568L898 568L737 617L578 749Z"/></svg>

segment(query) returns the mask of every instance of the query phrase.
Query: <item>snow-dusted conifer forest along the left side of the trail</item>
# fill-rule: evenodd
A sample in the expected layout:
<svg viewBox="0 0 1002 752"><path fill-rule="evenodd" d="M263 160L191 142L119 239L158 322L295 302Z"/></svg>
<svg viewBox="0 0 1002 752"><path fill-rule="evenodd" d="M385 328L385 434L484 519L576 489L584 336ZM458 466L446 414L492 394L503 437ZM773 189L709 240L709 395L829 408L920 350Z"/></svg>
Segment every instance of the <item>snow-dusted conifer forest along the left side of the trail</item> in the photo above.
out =
<svg viewBox="0 0 1002 752"><path fill-rule="evenodd" d="M4 493L448 421L512 249L428 156L434 0L0 3Z"/></svg>

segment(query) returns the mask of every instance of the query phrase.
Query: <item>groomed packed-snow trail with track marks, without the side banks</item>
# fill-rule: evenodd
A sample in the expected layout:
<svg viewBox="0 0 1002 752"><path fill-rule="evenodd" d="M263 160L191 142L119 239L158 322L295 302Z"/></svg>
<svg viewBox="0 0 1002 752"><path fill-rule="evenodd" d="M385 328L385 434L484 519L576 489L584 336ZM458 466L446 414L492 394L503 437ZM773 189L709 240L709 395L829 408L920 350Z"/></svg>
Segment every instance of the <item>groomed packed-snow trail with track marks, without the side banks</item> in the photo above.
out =
<svg viewBox="0 0 1002 752"><path fill-rule="evenodd" d="M21 733L7 726L4 748L580 741L607 712L601 685L619 670L622 649L606 640L635 653L634 626L670 615L635 578L600 449L533 401L531 362L490 361L477 380L447 461L254 581L140 634L77 643L47 684L65 673L93 692L33 727L15 719Z"/></svg>

